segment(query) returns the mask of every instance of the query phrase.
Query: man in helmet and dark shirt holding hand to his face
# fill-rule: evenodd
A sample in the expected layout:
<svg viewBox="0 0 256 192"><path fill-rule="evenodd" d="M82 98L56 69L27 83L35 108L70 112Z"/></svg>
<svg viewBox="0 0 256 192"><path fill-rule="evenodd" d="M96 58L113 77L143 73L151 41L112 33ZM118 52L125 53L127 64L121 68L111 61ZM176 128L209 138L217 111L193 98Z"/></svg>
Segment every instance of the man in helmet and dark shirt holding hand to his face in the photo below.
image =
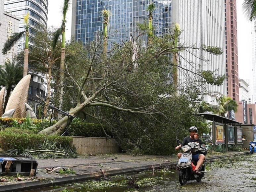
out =
<svg viewBox="0 0 256 192"><path fill-rule="evenodd" d="M189 127L188 129L189 131L189 136L185 137L181 143L181 145L177 146L175 149L178 150L181 146L187 145L190 142L194 142L194 139L199 138L198 134L197 134L197 128L195 126ZM202 141L199 139L198 140L199 145L201 146ZM182 153L178 153L178 158L181 157ZM195 153L192 154L192 159L197 162L196 164L196 168L194 170L194 172L198 175L202 174L201 171L199 171L198 169L200 168L200 166L203 164L205 156L203 154L200 153L200 151L197 151Z"/></svg>

